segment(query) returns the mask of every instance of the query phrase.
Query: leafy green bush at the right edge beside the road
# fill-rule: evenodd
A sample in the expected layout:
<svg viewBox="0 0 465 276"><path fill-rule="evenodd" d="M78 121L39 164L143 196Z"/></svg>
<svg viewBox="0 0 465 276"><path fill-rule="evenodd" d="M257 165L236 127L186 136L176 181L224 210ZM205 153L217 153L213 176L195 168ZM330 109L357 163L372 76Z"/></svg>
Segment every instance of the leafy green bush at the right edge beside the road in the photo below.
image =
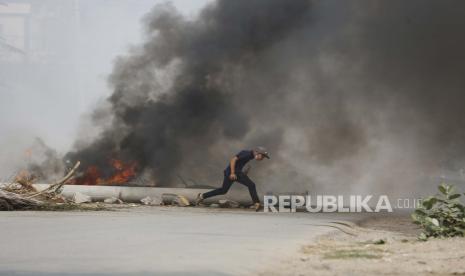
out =
<svg viewBox="0 0 465 276"><path fill-rule="evenodd" d="M424 198L412 214L413 222L423 229L418 238L465 236L462 195L451 185L441 184L438 189L439 194Z"/></svg>

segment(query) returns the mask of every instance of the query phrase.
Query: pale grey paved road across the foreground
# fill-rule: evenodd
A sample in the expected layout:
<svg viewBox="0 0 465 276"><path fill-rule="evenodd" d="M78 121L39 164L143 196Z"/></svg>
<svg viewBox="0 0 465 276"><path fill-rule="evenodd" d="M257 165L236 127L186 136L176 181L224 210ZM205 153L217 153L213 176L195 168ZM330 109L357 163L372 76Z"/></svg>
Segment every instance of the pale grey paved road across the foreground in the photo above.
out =
<svg viewBox="0 0 465 276"><path fill-rule="evenodd" d="M334 228L337 214L143 207L0 212L0 275L253 275Z"/></svg>

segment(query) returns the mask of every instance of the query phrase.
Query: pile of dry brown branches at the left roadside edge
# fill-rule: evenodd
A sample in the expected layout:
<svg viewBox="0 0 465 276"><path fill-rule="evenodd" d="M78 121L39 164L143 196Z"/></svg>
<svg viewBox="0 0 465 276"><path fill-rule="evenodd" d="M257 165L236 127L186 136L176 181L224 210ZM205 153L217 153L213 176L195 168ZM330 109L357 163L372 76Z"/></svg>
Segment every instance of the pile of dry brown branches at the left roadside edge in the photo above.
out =
<svg viewBox="0 0 465 276"><path fill-rule="evenodd" d="M37 191L32 186L33 176L24 172L19 173L12 183L0 188L0 210L42 209L44 206L65 203L66 199L60 195L61 189L74 175L79 165L78 161L65 177L42 191Z"/></svg>

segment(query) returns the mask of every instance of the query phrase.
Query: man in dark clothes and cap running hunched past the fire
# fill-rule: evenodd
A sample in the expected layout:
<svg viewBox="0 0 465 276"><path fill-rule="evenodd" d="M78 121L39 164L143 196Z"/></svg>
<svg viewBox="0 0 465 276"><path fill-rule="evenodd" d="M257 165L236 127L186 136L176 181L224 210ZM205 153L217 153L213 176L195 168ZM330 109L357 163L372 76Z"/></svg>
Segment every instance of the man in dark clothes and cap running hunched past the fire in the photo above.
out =
<svg viewBox="0 0 465 276"><path fill-rule="evenodd" d="M264 147L257 147L253 150L243 150L236 154L231 161L229 161L228 167L224 170L223 186L204 194L199 193L197 195L196 205L199 205L204 199L209 197L226 194L229 188L231 188L231 185L237 181L249 188L250 197L253 200L255 210L258 210L260 208L260 199L258 199L255 183L242 171L242 169L250 160L255 159L257 161L261 161L264 158L270 159L270 156Z"/></svg>

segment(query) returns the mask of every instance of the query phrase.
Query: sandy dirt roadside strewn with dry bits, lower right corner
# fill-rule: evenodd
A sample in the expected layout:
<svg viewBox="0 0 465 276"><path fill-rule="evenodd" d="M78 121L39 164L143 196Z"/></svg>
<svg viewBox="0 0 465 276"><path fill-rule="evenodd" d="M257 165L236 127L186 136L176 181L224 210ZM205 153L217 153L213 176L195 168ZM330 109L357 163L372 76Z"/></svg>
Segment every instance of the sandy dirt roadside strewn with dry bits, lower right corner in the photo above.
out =
<svg viewBox="0 0 465 276"><path fill-rule="evenodd" d="M465 275L465 238L418 241L408 214L339 228L262 275Z"/></svg>

